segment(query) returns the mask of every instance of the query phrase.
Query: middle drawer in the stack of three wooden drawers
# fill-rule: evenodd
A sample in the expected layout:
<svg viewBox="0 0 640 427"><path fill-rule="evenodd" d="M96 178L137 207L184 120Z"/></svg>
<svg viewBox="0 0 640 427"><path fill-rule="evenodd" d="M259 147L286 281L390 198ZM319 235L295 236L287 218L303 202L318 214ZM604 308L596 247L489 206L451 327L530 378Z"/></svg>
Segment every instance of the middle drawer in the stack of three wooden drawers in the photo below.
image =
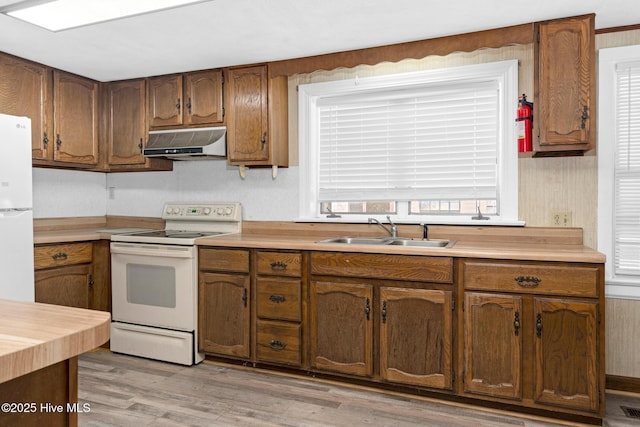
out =
<svg viewBox="0 0 640 427"><path fill-rule="evenodd" d="M259 317L300 321L300 280L262 277L257 283Z"/></svg>

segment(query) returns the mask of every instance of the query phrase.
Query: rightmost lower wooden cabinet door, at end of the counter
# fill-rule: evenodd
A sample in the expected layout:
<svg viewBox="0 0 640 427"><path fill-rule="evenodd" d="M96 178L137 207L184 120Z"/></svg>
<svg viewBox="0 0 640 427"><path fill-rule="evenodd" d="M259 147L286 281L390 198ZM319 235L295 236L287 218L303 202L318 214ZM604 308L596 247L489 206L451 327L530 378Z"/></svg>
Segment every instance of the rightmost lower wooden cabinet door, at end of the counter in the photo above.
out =
<svg viewBox="0 0 640 427"><path fill-rule="evenodd" d="M535 387L538 403L597 411L598 304L535 298Z"/></svg>

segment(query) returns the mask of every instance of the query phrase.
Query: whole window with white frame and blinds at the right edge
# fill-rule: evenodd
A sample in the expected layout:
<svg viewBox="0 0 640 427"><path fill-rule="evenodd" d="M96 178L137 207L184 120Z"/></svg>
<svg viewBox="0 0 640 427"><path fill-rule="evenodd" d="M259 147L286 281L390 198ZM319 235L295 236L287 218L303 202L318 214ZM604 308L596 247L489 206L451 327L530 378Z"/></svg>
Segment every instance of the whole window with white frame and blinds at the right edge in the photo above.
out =
<svg viewBox="0 0 640 427"><path fill-rule="evenodd" d="M606 294L640 299L640 46L599 51L598 250Z"/></svg>

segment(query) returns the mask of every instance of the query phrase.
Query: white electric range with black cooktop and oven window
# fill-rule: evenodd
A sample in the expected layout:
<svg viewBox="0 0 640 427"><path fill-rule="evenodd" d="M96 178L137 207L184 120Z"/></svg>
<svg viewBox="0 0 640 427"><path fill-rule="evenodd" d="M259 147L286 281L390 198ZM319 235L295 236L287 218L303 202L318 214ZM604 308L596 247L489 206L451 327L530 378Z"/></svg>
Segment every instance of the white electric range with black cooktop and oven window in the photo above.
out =
<svg viewBox="0 0 640 427"><path fill-rule="evenodd" d="M165 228L111 236L111 350L192 365L198 352L198 253L204 237L239 233L237 202L173 202Z"/></svg>

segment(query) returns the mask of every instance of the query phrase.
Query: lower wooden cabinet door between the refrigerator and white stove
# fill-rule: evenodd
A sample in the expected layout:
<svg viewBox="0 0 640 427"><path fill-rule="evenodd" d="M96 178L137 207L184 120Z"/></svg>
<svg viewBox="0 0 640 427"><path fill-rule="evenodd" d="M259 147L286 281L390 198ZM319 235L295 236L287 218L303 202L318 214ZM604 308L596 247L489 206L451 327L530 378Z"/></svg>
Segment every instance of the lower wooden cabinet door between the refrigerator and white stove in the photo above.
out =
<svg viewBox="0 0 640 427"><path fill-rule="evenodd" d="M56 267L35 272L35 301L89 308L91 264Z"/></svg>

